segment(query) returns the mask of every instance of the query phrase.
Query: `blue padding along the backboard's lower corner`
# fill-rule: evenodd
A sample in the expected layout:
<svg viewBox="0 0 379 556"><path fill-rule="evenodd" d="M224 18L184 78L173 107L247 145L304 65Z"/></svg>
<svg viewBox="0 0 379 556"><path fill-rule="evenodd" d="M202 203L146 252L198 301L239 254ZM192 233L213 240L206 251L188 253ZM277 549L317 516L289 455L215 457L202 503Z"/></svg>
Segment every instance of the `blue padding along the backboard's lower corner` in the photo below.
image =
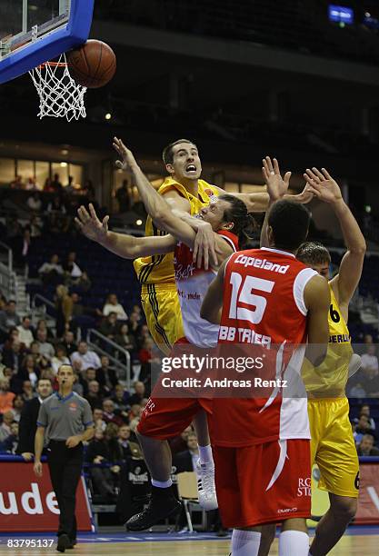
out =
<svg viewBox="0 0 379 556"><path fill-rule="evenodd" d="M94 2L95 0L71 0L70 19L64 29L46 34L2 60L0 84L85 43L91 29Z"/></svg>

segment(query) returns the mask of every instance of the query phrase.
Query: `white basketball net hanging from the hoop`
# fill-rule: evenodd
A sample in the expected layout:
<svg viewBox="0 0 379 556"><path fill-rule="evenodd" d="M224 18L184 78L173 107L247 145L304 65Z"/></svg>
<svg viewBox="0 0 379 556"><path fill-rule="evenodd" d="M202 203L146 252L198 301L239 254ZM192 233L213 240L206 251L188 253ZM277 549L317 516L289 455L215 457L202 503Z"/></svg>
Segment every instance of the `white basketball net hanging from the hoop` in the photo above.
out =
<svg viewBox="0 0 379 556"><path fill-rule="evenodd" d="M39 96L39 113L55 118L66 117L68 122L85 118L86 87L75 83L68 71L65 54L58 62L46 62L29 72Z"/></svg>

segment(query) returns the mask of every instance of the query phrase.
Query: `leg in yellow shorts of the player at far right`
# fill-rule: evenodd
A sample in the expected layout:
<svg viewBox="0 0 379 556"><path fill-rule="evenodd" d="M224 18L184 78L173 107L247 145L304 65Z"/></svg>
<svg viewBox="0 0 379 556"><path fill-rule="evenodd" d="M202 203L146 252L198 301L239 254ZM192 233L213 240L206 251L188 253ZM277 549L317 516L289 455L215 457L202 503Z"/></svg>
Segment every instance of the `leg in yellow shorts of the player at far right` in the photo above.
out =
<svg viewBox="0 0 379 556"><path fill-rule="evenodd" d="M341 539L357 509L359 462L349 421L346 398L313 403L326 422L316 462L320 469L319 488L329 492L330 508L318 523L310 553L327 554ZM314 419L317 415L314 414Z"/></svg>

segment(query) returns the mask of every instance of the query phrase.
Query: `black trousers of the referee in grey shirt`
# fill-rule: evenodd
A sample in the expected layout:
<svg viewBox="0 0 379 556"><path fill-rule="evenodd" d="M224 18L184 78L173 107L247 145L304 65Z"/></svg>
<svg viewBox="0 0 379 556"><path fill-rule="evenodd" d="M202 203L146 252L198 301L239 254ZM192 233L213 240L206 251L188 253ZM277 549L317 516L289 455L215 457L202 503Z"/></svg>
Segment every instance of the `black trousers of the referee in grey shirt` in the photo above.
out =
<svg viewBox="0 0 379 556"><path fill-rule="evenodd" d="M83 444L67 448L65 441L50 441L47 464L60 511L58 536L66 534L76 539L76 488L83 467Z"/></svg>

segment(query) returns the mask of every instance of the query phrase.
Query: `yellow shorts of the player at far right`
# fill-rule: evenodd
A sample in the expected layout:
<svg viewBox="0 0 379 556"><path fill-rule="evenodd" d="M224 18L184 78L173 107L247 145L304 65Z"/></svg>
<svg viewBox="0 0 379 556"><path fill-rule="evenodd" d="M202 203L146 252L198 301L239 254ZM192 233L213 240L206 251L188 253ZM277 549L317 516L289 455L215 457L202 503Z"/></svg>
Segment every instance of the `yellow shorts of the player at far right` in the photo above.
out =
<svg viewBox="0 0 379 556"><path fill-rule="evenodd" d="M318 487L339 496L358 497L359 462L347 398L308 400L311 463L317 463Z"/></svg>

